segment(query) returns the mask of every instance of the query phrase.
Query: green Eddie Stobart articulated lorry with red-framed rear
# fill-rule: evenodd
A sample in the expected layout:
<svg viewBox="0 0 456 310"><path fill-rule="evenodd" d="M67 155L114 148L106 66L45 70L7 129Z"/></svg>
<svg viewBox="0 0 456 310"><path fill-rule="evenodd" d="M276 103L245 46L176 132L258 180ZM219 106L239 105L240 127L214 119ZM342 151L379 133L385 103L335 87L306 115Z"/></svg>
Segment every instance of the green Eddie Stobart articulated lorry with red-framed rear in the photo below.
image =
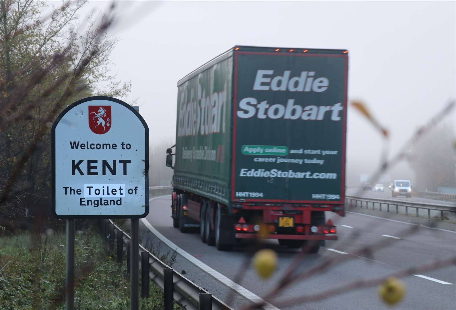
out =
<svg viewBox="0 0 456 310"><path fill-rule="evenodd" d="M325 212L345 215L347 69L346 50L235 46L182 78L174 227L219 250L337 240Z"/></svg>

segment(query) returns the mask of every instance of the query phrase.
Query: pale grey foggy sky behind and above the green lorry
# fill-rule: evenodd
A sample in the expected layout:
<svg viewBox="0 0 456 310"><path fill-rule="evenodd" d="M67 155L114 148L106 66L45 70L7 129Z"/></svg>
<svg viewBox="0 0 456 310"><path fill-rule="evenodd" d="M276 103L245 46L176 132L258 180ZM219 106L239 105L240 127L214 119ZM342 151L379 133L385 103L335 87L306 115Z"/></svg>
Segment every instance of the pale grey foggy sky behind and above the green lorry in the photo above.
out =
<svg viewBox="0 0 456 310"><path fill-rule="evenodd" d="M118 78L132 82L151 144L174 141L176 82L234 45L349 51L348 98L363 100L390 131L385 142L348 108L348 179L372 172L455 98L454 1L119 2L112 54ZM91 1L92 8L107 2ZM455 113L448 117L455 121ZM391 176L413 179L406 163Z"/></svg>

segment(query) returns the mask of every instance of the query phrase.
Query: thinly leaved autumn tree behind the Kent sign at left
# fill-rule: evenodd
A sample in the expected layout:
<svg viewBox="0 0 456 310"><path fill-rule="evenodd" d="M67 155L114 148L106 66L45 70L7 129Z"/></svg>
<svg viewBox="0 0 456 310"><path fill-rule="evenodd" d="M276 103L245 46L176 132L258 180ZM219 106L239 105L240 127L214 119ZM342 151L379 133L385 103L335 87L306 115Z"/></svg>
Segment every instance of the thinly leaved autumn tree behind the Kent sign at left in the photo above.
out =
<svg viewBox="0 0 456 310"><path fill-rule="evenodd" d="M24 214L25 206L49 214L50 129L62 109L130 92L130 83L109 73L118 41L107 35L113 7L81 22L86 3L0 0L0 219Z"/></svg>

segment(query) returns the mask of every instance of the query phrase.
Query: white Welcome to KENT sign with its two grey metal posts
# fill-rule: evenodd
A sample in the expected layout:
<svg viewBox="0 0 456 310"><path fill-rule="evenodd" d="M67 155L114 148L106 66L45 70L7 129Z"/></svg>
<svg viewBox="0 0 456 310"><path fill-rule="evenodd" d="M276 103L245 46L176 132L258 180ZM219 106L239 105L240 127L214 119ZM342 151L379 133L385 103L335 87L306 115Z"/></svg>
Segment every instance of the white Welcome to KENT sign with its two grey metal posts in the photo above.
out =
<svg viewBox="0 0 456 310"><path fill-rule="evenodd" d="M73 231L67 235L67 310L74 307L74 220L130 218L137 229L138 219L149 213L148 172L149 128L127 103L88 97L69 105L54 121L52 214L66 219L67 232ZM137 309L138 238L133 241L131 309Z"/></svg>

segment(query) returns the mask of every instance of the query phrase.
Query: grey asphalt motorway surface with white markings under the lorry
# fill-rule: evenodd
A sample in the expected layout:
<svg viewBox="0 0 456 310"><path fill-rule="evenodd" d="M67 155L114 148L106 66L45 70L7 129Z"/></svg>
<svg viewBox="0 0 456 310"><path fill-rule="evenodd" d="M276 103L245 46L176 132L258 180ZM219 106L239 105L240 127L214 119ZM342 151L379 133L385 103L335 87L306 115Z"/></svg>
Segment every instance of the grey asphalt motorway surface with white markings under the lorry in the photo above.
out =
<svg viewBox="0 0 456 310"><path fill-rule="evenodd" d="M147 225L144 225L143 222L140 224L142 242L147 242L148 246L155 252L160 252L160 255L168 253L168 257L174 248L170 248L166 243L179 247L181 253L187 255L187 258L185 255L178 254L172 267L178 271L184 270L187 278L208 289L234 309L241 309L242 305L249 303L249 292L265 298L269 290L278 282L294 255L299 252L299 250L280 247L277 241L270 240L269 246L274 248L279 255L278 270L270 279L260 279L249 266L249 249L254 246L253 243L243 241L232 251L221 252L215 247L202 243L199 231L180 233L177 228L172 227L170 197L151 199L150 213L145 218ZM423 222L421 226L420 223L418 225L408 223L409 217L400 215L388 214L390 217L394 216L394 219L385 219L382 218L385 212L365 209L359 210L359 212L356 209L353 211L346 217L327 213L327 217L331 217L337 222L339 241L326 242L326 246L321 248L319 253L307 255L298 272L316 266L327 257L348 256L352 259L340 263L325 273L291 285L272 302L275 307L282 310L387 309L388 306L378 298L376 286L356 289L305 304L283 305L283 302L289 301L290 298L321 293L353 281L387 276L435 259L454 257L456 254L455 224L446 222L439 224L439 227L443 228L435 229L424 227L430 223L427 219L421 219ZM147 226L158 231L163 236L162 239L167 240L166 243L156 238ZM416 227L417 231L413 234L404 234L410 227ZM358 234L358 238L353 239L354 233ZM389 246L375 251L369 257L353 255L357 248L385 239L390 241ZM190 262L189 257L202 262L203 264L200 264L202 267L197 267L195 263ZM247 266L247 268L242 268L243 266ZM221 275L214 274L213 270ZM237 276L238 274L240 277ZM429 272L416 271L416 274L418 275L404 278L407 294L404 300L397 305L397 309L456 309L456 268L454 265ZM242 285L248 290L247 293L242 290L241 293L235 292L223 284L228 280L225 277Z"/></svg>

